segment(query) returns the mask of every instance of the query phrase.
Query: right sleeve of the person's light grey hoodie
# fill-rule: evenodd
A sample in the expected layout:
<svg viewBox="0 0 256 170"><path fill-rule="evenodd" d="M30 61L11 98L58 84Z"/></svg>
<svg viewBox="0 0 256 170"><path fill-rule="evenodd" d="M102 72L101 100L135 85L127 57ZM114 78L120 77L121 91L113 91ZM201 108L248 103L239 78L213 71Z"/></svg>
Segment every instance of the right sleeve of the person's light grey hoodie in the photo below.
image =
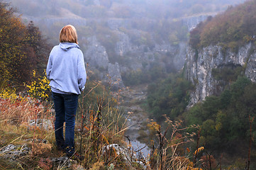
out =
<svg viewBox="0 0 256 170"><path fill-rule="evenodd" d="M87 72L84 65L84 55L81 52L78 57L78 64L77 64L77 81L80 91L84 90L84 85L87 82Z"/></svg>

